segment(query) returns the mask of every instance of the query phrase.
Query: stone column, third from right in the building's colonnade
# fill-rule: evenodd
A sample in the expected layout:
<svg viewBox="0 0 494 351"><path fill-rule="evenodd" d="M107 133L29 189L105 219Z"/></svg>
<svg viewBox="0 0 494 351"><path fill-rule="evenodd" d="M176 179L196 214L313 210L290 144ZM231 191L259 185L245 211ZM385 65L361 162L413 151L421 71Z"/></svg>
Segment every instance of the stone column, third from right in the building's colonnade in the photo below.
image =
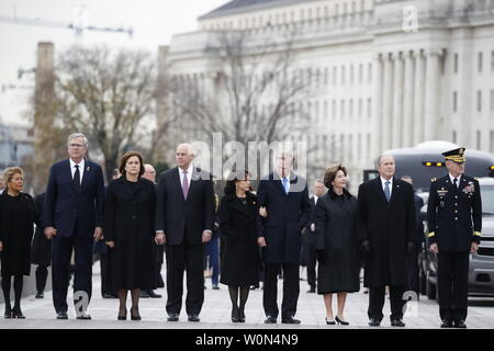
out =
<svg viewBox="0 0 494 351"><path fill-rule="evenodd" d="M414 118L414 61L409 52L403 54L405 65L405 79L403 91L403 147L413 146L413 118Z"/></svg>

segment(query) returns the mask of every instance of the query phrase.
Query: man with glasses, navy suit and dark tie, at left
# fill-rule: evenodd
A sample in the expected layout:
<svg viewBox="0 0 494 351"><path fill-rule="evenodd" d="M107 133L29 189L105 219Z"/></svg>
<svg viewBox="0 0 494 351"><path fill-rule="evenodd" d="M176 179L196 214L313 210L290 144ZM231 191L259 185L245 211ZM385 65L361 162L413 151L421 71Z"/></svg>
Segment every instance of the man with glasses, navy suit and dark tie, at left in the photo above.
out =
<svg viewBox="0 0 494 351"><path fill-rule="evenodd" d="M67 144L69 159L52 166L43 207L45 235L53 239L52 283L57 319L67 319L72 249L76 261L74 293L75 296L78 292L86 294L89 304L93 240L100 240L103 233L104 180L101 167L85 159L88 139L83 134L71 134ZM85 305L81 310L76 310L78 319L91 319Z"/></svg>

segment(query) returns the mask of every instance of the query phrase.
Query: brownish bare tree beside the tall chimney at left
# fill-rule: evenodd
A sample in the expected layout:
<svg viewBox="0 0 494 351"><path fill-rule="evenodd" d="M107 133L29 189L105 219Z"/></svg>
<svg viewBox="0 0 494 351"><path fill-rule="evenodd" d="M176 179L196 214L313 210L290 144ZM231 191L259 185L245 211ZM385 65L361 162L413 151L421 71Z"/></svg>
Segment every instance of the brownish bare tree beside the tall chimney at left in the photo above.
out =
<svg viewBox="0 0 494 351"><path fill-rule="evenodd" d="M57 118L97 145L108 179L122 152L146 152L151 143L155 93L156 66L146 52L76 46L56 67Z"/></svg>

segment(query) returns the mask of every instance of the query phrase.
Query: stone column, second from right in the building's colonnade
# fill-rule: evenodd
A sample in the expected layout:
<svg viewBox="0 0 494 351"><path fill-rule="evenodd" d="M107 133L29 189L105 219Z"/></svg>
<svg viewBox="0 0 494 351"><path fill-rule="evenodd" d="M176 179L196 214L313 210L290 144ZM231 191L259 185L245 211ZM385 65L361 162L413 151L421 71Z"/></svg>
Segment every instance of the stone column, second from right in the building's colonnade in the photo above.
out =
<svg viewBox="0 0 494 351"><path fill-rule="evenodd" d="M425 63L422 49L413 52L415 59L414 81L414 140L413 144L424 141L424 92L425 92Z"/></svg>

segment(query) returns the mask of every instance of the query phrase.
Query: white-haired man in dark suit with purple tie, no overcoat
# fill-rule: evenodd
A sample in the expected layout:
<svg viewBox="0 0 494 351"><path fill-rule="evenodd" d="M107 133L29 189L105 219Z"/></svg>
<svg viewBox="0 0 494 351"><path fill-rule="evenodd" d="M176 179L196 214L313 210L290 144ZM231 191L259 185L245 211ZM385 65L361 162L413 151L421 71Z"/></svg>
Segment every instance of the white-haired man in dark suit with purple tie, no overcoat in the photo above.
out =
<svg viewBox="0 0 494 351"><path fill-rule="evenodd" d="M186 310L189 321L199 321L204 302L204 244L211 240L214 223L214 191L211 174L192 166L191 145L177 148L177 166L158 182L157 242L166 244L167 313L179 319L183 271L187 271Z"/></svg>

